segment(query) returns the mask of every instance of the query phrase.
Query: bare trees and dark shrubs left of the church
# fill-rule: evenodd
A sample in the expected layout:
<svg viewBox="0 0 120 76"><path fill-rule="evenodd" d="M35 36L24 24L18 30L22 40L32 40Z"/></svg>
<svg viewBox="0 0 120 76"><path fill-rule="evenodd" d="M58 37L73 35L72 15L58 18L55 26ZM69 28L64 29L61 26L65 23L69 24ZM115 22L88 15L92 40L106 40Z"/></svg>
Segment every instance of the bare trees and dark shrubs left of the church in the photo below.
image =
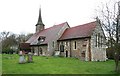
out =
<svg viewBox="0 0 120 76"><path fill-rule="evenodd" d="M18 51L19 44L26 42L33 34L14 34L11 32L3 31L0 33L0 53L10 53L11 51Z"/></svg>

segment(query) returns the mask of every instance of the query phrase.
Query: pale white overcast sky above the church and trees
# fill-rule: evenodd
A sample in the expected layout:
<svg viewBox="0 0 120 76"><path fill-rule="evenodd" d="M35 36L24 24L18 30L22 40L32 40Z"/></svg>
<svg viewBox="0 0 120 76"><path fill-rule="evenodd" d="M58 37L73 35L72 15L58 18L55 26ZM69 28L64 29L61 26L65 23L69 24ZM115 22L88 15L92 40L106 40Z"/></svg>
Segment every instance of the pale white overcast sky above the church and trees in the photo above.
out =
<svg viewBox="0 0 120 76"><path fill-rule="evenodd" d="M94 21L105 0L1 0L0 32L34 33L41 7L45 28L68 22L73 27ZM106 0L107 1L107 0Z"/></svg>

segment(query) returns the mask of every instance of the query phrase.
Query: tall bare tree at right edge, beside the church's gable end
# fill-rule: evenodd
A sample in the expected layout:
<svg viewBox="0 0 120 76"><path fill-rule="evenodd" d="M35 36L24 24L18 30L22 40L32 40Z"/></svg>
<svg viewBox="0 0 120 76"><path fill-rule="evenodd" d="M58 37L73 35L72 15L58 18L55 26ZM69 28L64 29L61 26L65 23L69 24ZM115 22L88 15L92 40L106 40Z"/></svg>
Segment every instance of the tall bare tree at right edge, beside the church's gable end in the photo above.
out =
<svg viewBox="0 0 120 76"><path fill-rule="evenodd" d="M102 28L106 33L108 40L108 47L113 51L115 60L115 71L120 72L120 44L119 44L119 30L120 30L120 2L109 2L102 4L102 8L98 12L98 17L102 23Z"/></svg>

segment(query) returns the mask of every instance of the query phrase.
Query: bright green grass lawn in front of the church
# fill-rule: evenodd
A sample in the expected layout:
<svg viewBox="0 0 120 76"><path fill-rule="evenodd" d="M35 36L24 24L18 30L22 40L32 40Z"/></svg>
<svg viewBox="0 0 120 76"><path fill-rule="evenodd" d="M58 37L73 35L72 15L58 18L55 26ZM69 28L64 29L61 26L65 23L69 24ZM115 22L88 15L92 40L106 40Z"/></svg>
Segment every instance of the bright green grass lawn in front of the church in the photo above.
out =
<svg viewBox="0 0 120 76"><path fill-rule="evenodd" d="M33 63L18 64L19 55L2 55L3 74L114 74L113 60L86 62L76 58L34 56Z"/></svg>

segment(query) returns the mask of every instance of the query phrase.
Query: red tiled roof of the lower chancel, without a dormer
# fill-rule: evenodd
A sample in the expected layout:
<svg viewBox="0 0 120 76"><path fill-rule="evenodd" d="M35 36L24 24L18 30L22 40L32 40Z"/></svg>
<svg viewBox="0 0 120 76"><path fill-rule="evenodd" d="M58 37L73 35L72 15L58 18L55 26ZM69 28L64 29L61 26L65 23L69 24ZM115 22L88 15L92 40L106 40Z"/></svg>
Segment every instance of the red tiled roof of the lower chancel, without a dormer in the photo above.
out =
<svg viewBox="0 0 120 76"><path fill-rule="evenodd" d="M59 40L90 37L96 27L96 21L68 28Z"/></svg>

